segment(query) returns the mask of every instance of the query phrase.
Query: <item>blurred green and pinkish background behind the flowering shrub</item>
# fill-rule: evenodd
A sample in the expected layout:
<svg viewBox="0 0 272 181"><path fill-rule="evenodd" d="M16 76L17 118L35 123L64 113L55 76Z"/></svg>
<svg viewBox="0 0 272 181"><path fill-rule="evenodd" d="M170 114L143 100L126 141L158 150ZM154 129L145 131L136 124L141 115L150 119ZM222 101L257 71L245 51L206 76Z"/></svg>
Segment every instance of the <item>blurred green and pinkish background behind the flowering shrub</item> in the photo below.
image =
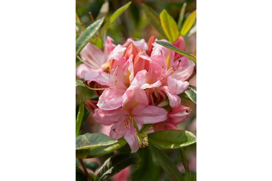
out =
<svg viewBox="0 0 272 181"><path fill-rule="evenodd" d="M104 2L108 2L107 6L103 6ZM112 15L119 7L125 5L129 0L76 0L75 9L76 13L79 15L82 23L87 27L92 24L92 20L90 18L89 12L92 13L94 19L108 18ZM153 27L150 26L148 20L145 16L145 13L142 10L142 4L146 4L147 6L153 8L158 14L165 9L175 20L178 22L179 13L184 3L187 3L185 9L185 18L196 9L196 0L132 0L132 4L130 7L119 17L117 18L113 24L107 30L107 35L114 39L114 44L124 44L127 38L133 39L142 39L144 38L147 42L151 35L155 34L156 38L162 39L162 37ZM102 14L102 17L97 17L99 15L99 11L102 8L102 11L105 14ZM101 16L101 14L100 14ZM80 34L80 24L76 21L76 30ZM186 42L186 52L195 51L196 52L196 33L191 35L190 37L185 39ZM196 75L189 81L190 85L196 86ZM91 99L96 97L92 90L87 89L86 87L77 86L76 87L76 111L78 110L78 103L81 98ZM196 104L191 101L182 99L181 104L184 106L188 106L191 108L190 116L182 121L178 127L181 130L188 130L196 135ZM85 109L86 110L86 109ZM86 110L87 111L87 110ZM93 119L92 113L86 112L85 115L87 119L82 123L82 134L87 132L96 133L102 132L104 134L109 134L111 126L103 126L97 123ZM167 150L162 149L165 153L173 160L174 163L178 166L179 170L184 173L184 180L187 179L185 169L182 165L182 159L180 150ZM196 172L196 144L187 146L184 148L187 159L189 162L189 168L192 172L192 175ZM113 154L113 153L112 153ZM103 162L110 157L112 154L107 154L102 157L86 159L86 161L96 161L99 165L102 165ZM154 175L154 177L150 177L150 180L171 180L167 174L160 168L155 158L153 158L154 164L156 167L153 171L150 171L150 174ZM80 167L80 166L79 166ZM109 180L118 180L125 181L130 180L131 171L134 169L134 166L130 166L125 170L119 172L114 177ZM90 171L90 170L89 170ZM92 172L92 171L90 171ZM97 171L96 171L97 172ZM96 173L95 173L96 174ZM152 178L152 179L151 179Z"/></svg>

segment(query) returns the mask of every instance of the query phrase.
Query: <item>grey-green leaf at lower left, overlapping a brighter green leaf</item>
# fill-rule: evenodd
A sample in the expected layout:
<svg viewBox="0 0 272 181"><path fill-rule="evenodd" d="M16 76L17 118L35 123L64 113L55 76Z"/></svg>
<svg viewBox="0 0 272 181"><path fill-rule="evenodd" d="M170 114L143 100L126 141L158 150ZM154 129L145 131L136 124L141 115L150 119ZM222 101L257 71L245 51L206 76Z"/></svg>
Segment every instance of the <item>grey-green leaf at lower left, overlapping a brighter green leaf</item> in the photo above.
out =
<svg viewBox="0 0 272 181"><path fill-rule="evenodd" d="M108 146L117 142L118 140L114 140L112 137L103 133L86 133L76 137L76 150Z"/></svg>

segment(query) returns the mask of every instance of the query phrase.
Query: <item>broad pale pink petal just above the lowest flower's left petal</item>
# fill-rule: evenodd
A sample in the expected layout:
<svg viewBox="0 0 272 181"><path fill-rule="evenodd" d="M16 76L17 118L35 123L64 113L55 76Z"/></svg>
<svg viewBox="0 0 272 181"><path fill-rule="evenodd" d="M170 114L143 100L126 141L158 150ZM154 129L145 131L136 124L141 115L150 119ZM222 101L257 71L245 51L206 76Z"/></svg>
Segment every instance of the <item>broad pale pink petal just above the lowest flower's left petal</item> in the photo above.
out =
<svg viewBox="0 0 272 181"><path fill-rule="evenodd" d="M99 97L97 106L103 110L113 110L123 105L122 96L125 93L121 90L106 89Z"/></svg>

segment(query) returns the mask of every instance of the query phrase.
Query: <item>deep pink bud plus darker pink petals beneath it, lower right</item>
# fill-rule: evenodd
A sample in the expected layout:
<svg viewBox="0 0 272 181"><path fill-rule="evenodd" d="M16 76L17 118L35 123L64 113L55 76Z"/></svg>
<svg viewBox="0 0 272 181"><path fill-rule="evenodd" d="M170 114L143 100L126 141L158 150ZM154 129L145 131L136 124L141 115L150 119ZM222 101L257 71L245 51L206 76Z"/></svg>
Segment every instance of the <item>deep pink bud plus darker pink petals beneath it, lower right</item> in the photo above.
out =
<svg viewBox="0 0 272 181"><path fill-rule="evenodd" d="M171 108L167 114L167 120L156 123L153 128L155 131L167 130L167 129L179 129L176 125L185 120L190 115L190 108L179 105Z"/></svg>

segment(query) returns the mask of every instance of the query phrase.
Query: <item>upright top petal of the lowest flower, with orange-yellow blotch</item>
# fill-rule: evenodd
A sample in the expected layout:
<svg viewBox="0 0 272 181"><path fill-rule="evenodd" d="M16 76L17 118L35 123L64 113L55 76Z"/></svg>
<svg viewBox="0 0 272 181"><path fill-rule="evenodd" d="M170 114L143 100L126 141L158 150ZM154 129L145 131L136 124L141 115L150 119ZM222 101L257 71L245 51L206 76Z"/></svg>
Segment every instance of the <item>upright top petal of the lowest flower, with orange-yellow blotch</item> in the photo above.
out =
<svg viewBox="0 0 272 181"><path fill-rule="evenodd" d="M139 110L144 109L148 105L146 93L142 89L127 90L122 98L122 109L130 114L134 111L138 112Z"/></svg>

